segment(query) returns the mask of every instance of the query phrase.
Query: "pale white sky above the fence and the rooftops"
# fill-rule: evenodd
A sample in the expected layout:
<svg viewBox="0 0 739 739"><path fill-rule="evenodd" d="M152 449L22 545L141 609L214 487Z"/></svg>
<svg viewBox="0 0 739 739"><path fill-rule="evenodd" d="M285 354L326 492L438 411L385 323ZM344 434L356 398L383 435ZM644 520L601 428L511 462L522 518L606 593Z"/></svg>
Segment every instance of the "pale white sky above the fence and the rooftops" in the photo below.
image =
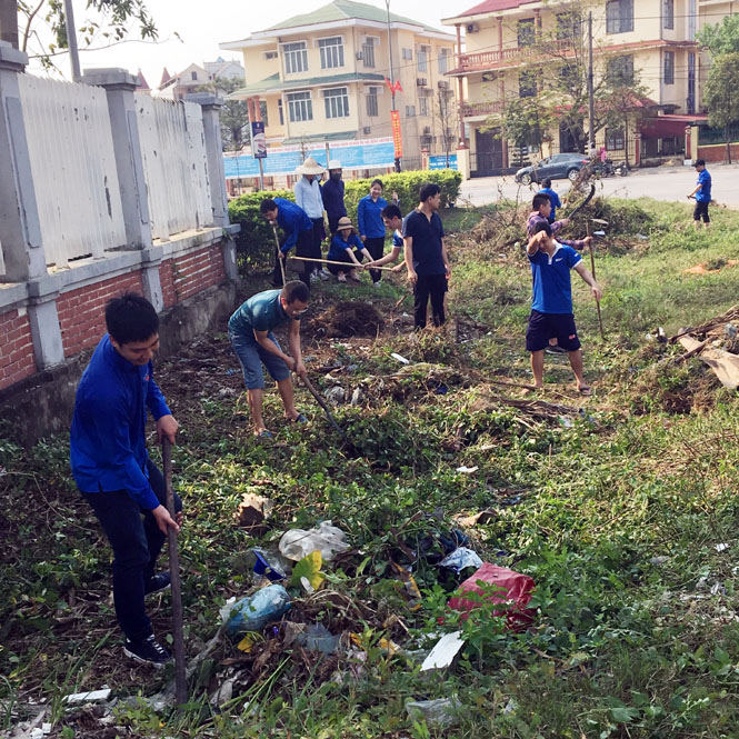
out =
<svg viewBox="0 0 739 739"><path fill-rule="evenodd" d="M363 0L368 4L385 8L385 0ZM84 24L86 0L72 0L78 28ZM80 51L82 71L96 67L120 67L133 74L140 69L151 88L161 79L167 67L174 74L190 63L201 64L223 59L239 59L234 51L223 51L218 44L243 39L292 16L310 12L328 4L329 0L282 0L272 4L263 0L146 0L146 4L159 30L158 43L132 40L112 48ZM455 16L477 4L477 0L390 0L390 11L419 20L440 30L453 32L453 28L441 27L439 20ZM43 31L42 23L38 26ZM179 38L178 38L179 36ZM48 36L47 36L48 38ZM136 38L134 36L132 38ZM81 48L81 44L80 44ZM29 53L31 52L29 48ZM61 73L70 79L69 54L54 58ZM31 61L30 70L40 72L38 62Z"/></svg>

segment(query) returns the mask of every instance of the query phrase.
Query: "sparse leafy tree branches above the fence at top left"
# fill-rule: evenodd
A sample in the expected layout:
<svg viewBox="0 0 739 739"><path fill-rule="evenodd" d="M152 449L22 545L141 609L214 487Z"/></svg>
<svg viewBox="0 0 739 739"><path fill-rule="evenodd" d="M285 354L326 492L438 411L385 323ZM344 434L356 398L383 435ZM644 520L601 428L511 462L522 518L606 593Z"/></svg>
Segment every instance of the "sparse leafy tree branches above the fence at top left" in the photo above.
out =
<svg viewBox="0 0 739 739"><path fill-rule="evenodd" d="M87 11L90 17L77 29L81 51L123 43L133 29L138 29L142 40L157 41L157 27L144 0L87 0ZM44 67L53 67L52 58L69 48L63 0L18 0L18 12L21 50L31 59L39 59ZM50 42L38 31L41 21L51 29L53 40Z"/></svg>

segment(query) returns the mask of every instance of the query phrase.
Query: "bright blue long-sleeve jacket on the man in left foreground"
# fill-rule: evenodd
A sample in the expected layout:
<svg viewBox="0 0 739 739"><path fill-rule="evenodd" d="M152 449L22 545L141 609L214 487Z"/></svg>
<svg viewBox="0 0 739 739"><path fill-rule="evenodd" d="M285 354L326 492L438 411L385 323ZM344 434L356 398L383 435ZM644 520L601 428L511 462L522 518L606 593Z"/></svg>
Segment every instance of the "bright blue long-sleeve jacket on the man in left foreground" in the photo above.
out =
<svg viewBox="0 0 739 739"><path fill-rule="evenodd" d="M74 401L70 462L82 492L126 490L147 510L159 506L146 469L147 409L154 420L170 415L151 362L132 364L106 334L82 373Z"/></svg>

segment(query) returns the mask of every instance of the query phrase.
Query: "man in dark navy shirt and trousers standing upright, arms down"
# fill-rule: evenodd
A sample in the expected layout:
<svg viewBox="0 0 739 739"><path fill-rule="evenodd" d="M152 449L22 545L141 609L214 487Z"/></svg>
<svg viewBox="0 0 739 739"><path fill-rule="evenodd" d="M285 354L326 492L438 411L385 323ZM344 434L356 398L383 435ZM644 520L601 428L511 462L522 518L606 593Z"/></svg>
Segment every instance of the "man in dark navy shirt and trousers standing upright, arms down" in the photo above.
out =
<svg viewBox="0 0 739 739"><path fill-rule="evenodd" d="M415 322L417 329L426 327L426 312L431 298L433 324L445 320L445 293L451 276L443 224L437 212L441 204L441 188L427 182L419 193L420 204L403 221L405 257L408 281L413 286Z"/></svg>

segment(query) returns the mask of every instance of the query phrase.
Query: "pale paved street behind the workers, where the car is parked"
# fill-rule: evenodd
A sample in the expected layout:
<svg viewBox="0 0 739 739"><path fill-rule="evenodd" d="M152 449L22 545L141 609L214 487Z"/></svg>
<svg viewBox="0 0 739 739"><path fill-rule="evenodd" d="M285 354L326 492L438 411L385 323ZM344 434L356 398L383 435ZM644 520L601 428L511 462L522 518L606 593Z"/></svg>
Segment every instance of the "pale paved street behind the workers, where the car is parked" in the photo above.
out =
<svg viewBox="0 0 739 739"><path fill-rule="evenodd" d="M709 164L708 171L713 181L712 196L717 202L739 209L739 164ZM609 177L598 181L598 194L617 198L653 198L668 202L692 202L686 199L697 181L692 167L656 167L633 170L627 177ZM540 186L518 184L513 177L482 177L462 182L460 204L486 206L497 202L500 197L528 200ZM553 180L552 188L560 197L569 189L568 180ZM602 189L601 189L602 188Z"/></svg>

